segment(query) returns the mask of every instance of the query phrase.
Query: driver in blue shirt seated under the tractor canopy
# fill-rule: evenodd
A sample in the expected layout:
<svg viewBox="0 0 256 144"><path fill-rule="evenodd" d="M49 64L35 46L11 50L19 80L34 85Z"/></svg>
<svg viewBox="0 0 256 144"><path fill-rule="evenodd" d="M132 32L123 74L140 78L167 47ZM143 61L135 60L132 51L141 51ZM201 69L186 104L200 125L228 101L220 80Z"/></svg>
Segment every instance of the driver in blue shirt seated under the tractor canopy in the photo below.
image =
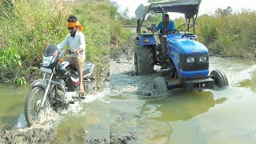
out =
<svg viewBox="0 0 256 144"><path fill-rule="evenodd" d="M169 20L169 14L165 14L165 24L166 24L166 33L174 33L175 26L174 22ZM160 22L156 27L156 30L160 30L160 34L162 34L163 22Z"/></svg>

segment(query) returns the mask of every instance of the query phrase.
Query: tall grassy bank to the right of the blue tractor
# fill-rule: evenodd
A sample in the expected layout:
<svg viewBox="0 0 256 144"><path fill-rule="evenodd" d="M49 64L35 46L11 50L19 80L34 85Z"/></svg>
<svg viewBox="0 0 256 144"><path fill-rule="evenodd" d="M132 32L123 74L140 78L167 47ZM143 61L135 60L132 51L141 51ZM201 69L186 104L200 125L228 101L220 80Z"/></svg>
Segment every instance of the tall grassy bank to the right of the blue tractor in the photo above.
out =
<svg viewBox="0 0 256 144"><path fill-rule="evenodd" d="M255 11L244 10L226 16L202 15L196 27L196 34L212 53L225 57L256 57Z"/></svg>

